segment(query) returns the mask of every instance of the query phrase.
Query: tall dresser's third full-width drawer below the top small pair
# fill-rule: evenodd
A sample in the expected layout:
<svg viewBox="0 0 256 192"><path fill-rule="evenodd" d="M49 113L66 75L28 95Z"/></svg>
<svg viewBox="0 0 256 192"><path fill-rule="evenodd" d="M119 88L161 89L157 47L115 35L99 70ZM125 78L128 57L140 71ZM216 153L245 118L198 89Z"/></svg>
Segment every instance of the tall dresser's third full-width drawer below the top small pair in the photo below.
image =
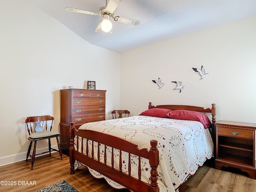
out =
<svg viewBox="0 0 256 192"><path fill-rule="evenodd" d="M81 115L72 115L72 122L76 123L86 123L94 121L105 120L105 113L92 113L92 114L81 114Z"/></svg>

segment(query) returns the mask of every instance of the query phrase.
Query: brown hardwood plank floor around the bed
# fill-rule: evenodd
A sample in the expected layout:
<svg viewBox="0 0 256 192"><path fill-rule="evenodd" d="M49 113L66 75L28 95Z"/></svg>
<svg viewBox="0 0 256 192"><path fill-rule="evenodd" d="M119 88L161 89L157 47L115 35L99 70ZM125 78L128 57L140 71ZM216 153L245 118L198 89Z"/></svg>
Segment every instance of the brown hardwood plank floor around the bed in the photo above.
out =
<svg viewBox="0 0 256 192"><path fill-rule="evenodd" d="M5 192L34 192L60 180L65 180L79 192L128 192L115 190L103 179L93 178L83 167L70 175L68 156L60 160L58 153L38 157L34 169L30 170L28 160L0 167L0 181L16 181L15 186L0 186ZM20 182L19 182L20 181ZM22 181L31 185L22 185ZM23 184L26 184L24 183ZM36 182L36 185L33 185ZM204 165L183 184L179 192L256 192L256 180L242 174L216 170Z"/></svg>

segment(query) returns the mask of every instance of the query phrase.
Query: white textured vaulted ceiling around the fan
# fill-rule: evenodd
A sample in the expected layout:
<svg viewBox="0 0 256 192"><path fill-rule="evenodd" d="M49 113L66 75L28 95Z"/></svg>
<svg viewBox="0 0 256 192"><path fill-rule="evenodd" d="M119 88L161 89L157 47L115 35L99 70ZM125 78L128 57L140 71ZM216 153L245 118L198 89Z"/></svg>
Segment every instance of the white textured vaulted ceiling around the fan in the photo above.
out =
<svg viewBox="0 0 256 192"><path fill-rule="evenodd" d="M95 32L102 16L68 12L72 7L98 13L105 0L30 0L90 44L116 52L189 34L256 15L256 0L122 0L114 16L140 20L132 26L111 20L112 34Z"/></svg>

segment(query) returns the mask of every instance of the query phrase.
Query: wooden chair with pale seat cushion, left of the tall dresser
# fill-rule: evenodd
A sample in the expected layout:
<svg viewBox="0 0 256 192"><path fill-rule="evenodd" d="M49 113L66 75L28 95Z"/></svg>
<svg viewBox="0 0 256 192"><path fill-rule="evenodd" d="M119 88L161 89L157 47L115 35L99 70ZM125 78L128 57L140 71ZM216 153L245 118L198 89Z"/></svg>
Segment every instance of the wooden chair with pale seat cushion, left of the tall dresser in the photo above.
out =
<svg viewBox="0 0 256 192"><path fill-rule="evenodd" d="M28 156L30 156L30 158L31 158L31 169L33 169L36 155L49 153L50 156L51 156L52 151L57 151L57 152L60 153L61 160L63 159L61 148L60 148L60 143L59 143L59 139L58 139L58 137L60 136L60 133L52 131L53 120L54 120L54 117L49 116L49 115L34 116L34 117L26 118L26 126L27 126L28 134L29 134L28 140L30 140L30 145L28 147L28 153L27 153L26 161L28 161ZM42 122L42 125L41 125L41 122ZM33 127L35 125L36 125L36 127L34 129L35 132L33 132ZM50 125L50 128L48 128L49 125ZM54 138L54 137L56 137L59 150L53 149L51 147L50 138ZM39 140L44 140L44 139L48 139L48 151L36 154L36 142L39 141ZM33 154L31 155L30 150L31 150L31 146L32 146L33 142L34 142L34 149L33 149Z"/></svg>

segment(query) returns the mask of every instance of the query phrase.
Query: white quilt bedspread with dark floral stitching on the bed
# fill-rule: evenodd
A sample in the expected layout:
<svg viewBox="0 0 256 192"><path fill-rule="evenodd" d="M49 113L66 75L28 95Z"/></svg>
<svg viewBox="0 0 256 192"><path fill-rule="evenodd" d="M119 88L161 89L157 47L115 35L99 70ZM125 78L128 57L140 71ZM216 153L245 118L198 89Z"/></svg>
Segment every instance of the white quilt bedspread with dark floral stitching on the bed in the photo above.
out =
<svg viewBox="0 0 256 192"><path fill-rule="evenodd" d="M132 116L86 123L80 126L79 129L96 130L118 136L138 144L139 149L150 149L150 140L157 140L159 150L158 185L160 192L174 192L188 176L196 172L198 166L202 166L206 159L210 159L213 154L213 143L209 130L205 129L201 122L196 121ZM79 140L81 142L80 138ZM96 150L97 147L95 146L94 153L96 153ZM117 150L116 154L118 154ZM104 154L101 153L101 155L101 159L103 159ZM119 157L118 155L116 156L115 166L118 168ZM128 172L128 164L125 160L127 156L128 154L122 153L123 172ZM108 160L111 160L110 155ZM110 162L108 163L110 164ZM138 164L138 157L135 155L132 156L132 163L134 166ZM76 163L77 167L78 163ZM103 177L98 172L89 170L97 178ZM132 168L132 176L137 177L137 172L137 168ZM141 180L149 183L149 178L150 165L148 160L142 158ZM111 186L122 188L119 184L109 179L106 180Z"/></svg>

